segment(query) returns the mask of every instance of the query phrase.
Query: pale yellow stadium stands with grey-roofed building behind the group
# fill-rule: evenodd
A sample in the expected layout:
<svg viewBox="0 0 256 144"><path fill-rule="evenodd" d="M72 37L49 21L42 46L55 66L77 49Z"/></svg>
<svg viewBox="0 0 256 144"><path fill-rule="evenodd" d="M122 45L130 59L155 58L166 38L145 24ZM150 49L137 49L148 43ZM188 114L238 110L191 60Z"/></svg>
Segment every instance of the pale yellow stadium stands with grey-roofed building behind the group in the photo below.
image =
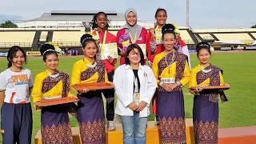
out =
<svg viewBox="0 0 256 144"><path fill-rule="evenodd" d="M10 46L21 46L25 50L38 50L42 44L53 42L62 50L80 48L80 38L85 34L86 26L91 24L98 11L53 10L39 18L16 22L18 28L0 28L0 51ZM125 26L123 13L105 11L110 24L110 32L116 34ZM138 24L149 29L154 21L140 21ZM210 42L216 50L235 50L249 46L256 40L256 29L192 29L179 26L182 39L190 49L198 42Z"/></svg>

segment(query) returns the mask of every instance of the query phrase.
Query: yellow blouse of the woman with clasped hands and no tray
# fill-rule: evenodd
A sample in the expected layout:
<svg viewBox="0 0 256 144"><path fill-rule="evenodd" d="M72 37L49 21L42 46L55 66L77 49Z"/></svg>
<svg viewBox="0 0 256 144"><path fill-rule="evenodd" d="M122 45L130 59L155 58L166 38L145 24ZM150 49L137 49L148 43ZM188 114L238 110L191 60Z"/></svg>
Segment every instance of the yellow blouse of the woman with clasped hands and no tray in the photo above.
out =
<svg viewBox="0 0 256 144"><path fill-rule="evenodd" d="M173 62L170 66L167 66L164 70L162 70L162 73L159 74L158 70L158 62L162 58L165 57L165 53L162 52L160 54L157 54L154 58L154 62L152 64L152 70L154 72L154 77L156 78L157 82L160 82L160 78L175 78L176 76L176 64L177 62ZM179 81L182 86L186 85L187 82L190 80L190 68L188 63L186 62L184 74L182 76L182 79Z"/></svg>

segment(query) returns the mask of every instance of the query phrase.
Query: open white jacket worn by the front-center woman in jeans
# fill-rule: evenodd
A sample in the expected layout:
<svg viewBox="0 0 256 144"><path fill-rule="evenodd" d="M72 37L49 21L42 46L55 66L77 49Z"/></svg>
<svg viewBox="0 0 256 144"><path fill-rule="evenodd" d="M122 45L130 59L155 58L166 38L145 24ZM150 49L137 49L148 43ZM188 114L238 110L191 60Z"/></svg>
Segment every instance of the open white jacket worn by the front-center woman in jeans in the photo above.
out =
<svg viewBox="0 0 256 144"><path fill-rule="evenodd" d="M150 101L157 87L153 71L149 66L139 65L138 78L140 82L140 100L146 102L146 107L140 111L139 117L147 117L150 114ZM132 116L134 111L128 105L134 97L134 72L130 65L123 64L114 71L114 89L118 96L115 113L118 115Z"/></svg>

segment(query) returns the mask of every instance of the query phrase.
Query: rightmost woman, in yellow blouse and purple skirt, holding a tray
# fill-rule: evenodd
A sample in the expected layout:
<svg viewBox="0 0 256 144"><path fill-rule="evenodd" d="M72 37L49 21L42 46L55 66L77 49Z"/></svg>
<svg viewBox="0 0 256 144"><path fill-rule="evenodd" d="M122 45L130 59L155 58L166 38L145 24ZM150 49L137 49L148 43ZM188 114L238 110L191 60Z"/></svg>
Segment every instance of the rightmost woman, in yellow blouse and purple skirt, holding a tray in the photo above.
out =
<svg viewBox="0 0 256 144"><path fill-rule="evenodd" d="M226 96L219 90L202 90L201 86L223 86L222 70L210 64L210 45L197 45L199 64L191 70L189 87L194 94L193 122L196 143L218 143L218 94L226 102Z"/></svg>

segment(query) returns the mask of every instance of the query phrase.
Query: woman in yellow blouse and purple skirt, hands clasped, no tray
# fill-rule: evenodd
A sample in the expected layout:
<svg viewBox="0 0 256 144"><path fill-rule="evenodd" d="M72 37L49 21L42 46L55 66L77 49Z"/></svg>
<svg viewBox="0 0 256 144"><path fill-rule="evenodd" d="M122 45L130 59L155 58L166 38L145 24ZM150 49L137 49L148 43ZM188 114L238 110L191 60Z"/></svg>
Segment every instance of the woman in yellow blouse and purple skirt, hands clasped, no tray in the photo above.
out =
<svg viewBox="0 0 256 144"><path fill-rule="evenodd" d="M157 101L161 143L186 143L182 86L190 79L185 54L174 49L175 27L162 26L164 51L154 58L152 69L158 82Z"/></svg>

